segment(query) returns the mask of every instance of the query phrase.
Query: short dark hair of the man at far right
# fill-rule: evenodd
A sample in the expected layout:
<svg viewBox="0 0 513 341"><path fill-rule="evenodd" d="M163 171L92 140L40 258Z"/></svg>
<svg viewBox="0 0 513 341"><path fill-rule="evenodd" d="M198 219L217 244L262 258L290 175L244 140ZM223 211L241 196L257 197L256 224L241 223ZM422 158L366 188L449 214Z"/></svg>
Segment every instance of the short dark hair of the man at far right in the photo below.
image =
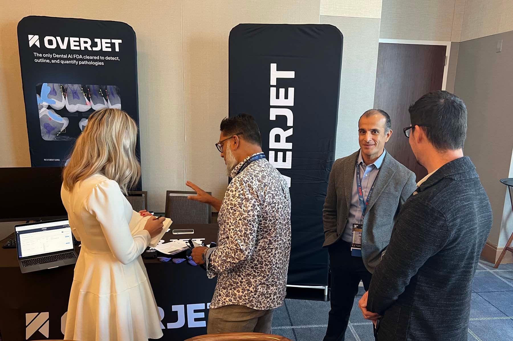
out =
<svg viewBox="0 0 513 341"><path fill-rule="evenodd" d="M411 125L426 131L427 139L440 151L463 148L467 137L467 108L450 92L431 91L410 105Z"/></svg>

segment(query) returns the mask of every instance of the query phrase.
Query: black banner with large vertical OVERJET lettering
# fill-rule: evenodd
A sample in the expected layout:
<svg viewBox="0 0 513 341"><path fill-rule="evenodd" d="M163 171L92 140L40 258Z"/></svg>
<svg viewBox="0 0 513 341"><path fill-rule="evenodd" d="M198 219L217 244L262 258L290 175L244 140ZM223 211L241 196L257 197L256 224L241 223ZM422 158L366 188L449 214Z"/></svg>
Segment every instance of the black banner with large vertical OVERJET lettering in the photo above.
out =
<svg viewBox="0 0 513 341"><path fill-rule="evenodd" d="M327 285L322 208L335 156L342 33L331 25L240 24L229 39L229 115L250 113L290 184L288 283Z"/></svg>

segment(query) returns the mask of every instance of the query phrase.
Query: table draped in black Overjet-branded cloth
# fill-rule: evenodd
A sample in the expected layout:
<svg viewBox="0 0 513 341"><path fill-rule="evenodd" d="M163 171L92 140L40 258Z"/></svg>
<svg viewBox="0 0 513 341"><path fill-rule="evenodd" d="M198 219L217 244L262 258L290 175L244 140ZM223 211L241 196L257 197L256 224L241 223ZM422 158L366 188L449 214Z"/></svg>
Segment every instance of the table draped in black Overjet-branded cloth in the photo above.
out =
<svg viewBox="0 0 513 341"><path fill-rule="evenodd" d="M208 244L217 241L219 226L172 224L173 229L194 229L194 234L173 235L170 231L164 235L165 241L205 238ZM208 279L205 270L186 261L175 264L145 259L144 263L162 317L164 337L161 340L181 341L206 334L215 278ZM0 248L0 335L3 341L64 337L73 269L73 266L65 266L22 274L16 249Z"/></svg>

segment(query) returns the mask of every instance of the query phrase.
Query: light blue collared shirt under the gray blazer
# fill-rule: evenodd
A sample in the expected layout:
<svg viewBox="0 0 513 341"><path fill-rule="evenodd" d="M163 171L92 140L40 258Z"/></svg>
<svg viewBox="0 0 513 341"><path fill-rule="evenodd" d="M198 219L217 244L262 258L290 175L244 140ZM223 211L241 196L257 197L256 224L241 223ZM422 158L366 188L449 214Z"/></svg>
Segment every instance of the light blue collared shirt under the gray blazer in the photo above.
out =
<svg viewBox="0 0 513 341"><path fill-rule="evenodd" d="M366 165L363 162L362 151L360 150L360 155L358 156L358 166L360 167L360 175L362 177L364 200L367 199L367 194L369 193L370 187L372 186L374 179L376 179L378 176L378 172L380 171L383 160L385 159L385 154L386 150L383 150L381 156L376 161L374 161L374 163ZM347 218L346 228L344 229L342 240L352 242L352 224L360 224L362 222L362 209L360 207L360 200L358 198L358 186L356 184L356 165L354 167L351 204L349 206L349 214Z"/></svg>

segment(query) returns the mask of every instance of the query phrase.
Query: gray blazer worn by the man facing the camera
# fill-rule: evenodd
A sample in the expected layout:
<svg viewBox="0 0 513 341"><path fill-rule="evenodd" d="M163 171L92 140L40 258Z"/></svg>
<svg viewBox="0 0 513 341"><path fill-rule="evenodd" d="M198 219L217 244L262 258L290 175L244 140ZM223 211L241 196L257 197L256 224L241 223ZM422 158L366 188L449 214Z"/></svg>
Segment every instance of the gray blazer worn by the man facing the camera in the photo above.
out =
<svg viewBox="0 0 513 341"><path fill-rule="evenodd" d="M344 232L351 203L354 167L359 154L360 150L338 159L331 168L323 209L323 247L338 241ZM363 222L362 257L369 272L373 273L380 262L399 210L415 188L415 174L386 153Z"/></svg>

